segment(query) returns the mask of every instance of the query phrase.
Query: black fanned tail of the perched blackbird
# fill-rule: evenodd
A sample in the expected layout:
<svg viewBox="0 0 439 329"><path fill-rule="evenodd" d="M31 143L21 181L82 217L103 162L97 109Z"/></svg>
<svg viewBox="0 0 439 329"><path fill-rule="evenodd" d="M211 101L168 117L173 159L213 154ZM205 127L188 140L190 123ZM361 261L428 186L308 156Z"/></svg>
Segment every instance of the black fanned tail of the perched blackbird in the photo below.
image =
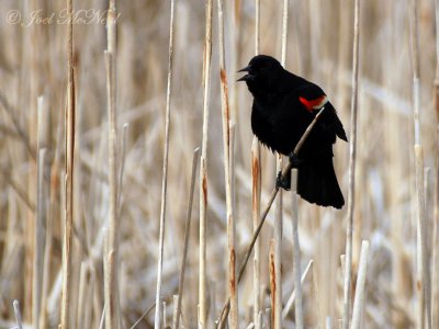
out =
<svg viewBox="0 0 439 329"><path fill-rule="evenodd" d="M333 157L304 161L297 172L297 194L309 203L341 208L345 204Z"/></svg>

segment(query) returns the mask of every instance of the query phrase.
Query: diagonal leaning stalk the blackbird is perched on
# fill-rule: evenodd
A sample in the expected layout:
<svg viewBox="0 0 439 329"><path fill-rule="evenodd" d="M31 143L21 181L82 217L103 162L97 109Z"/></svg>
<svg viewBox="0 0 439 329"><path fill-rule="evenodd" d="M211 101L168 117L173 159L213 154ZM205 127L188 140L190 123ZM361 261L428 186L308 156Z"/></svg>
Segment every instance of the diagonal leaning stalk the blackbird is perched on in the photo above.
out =
<svg viewBox="0 0 439 329"><path fill-rule="evenodd" d="M297 145L294 147L294 151L293 152L295 155L297 155L299 151L301 150L303 144L305 143L305 140L308 137L309 133L312 132L313 127L317 123L317 121L320 117L323 111L325 111L325 107L322 107L322 110L316 114L316 116L314 117L312 123L308 125L306 131L303 133L303 135L302 135L301 139L299 140ZM292 164L291 164L291 162L289 162L288 166L285 166L285 168L282 170L282 179L286 178L286 175L289 174L288 172L291 170L291 168L292 168ZM278 192L279 192L279 186L274 186L273 190L271 191L268 204L267 204L264 211L262 212L259 225L258 225L257 229L254 232L251 241L250 241L249 246L247 247L246 254L244 256L244 260L241 261L241 263L239 265L238 283L240 282L240 280L241 280L241 277L244 275L244 271L246 269L246 265L247 265L247 262L248 262L248 260L250 258L250 254L251 254L251 252L254 250L256 240L259 237L259 234L260 234L260 231L262 229L263 223L266 222L267 215L270 212L271 205L273 204L274 198L278 195ZM223 310L221 313L221 317L217 320L217 322L218 322L217 328L224 328L225 322L226 322L225 320L227 319L227 316L228 316L229 307L230 307L230 299L227 298L227 300L226 300L226 303L225 303L225 305L223 307Z"/></svg>

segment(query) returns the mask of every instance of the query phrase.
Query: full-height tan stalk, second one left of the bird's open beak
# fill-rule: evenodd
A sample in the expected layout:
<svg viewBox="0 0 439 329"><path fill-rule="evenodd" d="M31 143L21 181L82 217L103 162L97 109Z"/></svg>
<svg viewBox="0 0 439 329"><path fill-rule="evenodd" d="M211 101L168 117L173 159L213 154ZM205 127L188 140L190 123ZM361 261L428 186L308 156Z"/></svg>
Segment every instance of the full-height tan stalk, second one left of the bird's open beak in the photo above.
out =
<svg viewBox="0 0 439 329"><path fill-rule="evenodd" d="M207 133L209 95L211 84L212 57L212 0L206 0L206 25L203 60L203 137L200 166L200 268L199 268L199 328L207 326L207 277L206 277L206 229L207 229Z"/></svg>

